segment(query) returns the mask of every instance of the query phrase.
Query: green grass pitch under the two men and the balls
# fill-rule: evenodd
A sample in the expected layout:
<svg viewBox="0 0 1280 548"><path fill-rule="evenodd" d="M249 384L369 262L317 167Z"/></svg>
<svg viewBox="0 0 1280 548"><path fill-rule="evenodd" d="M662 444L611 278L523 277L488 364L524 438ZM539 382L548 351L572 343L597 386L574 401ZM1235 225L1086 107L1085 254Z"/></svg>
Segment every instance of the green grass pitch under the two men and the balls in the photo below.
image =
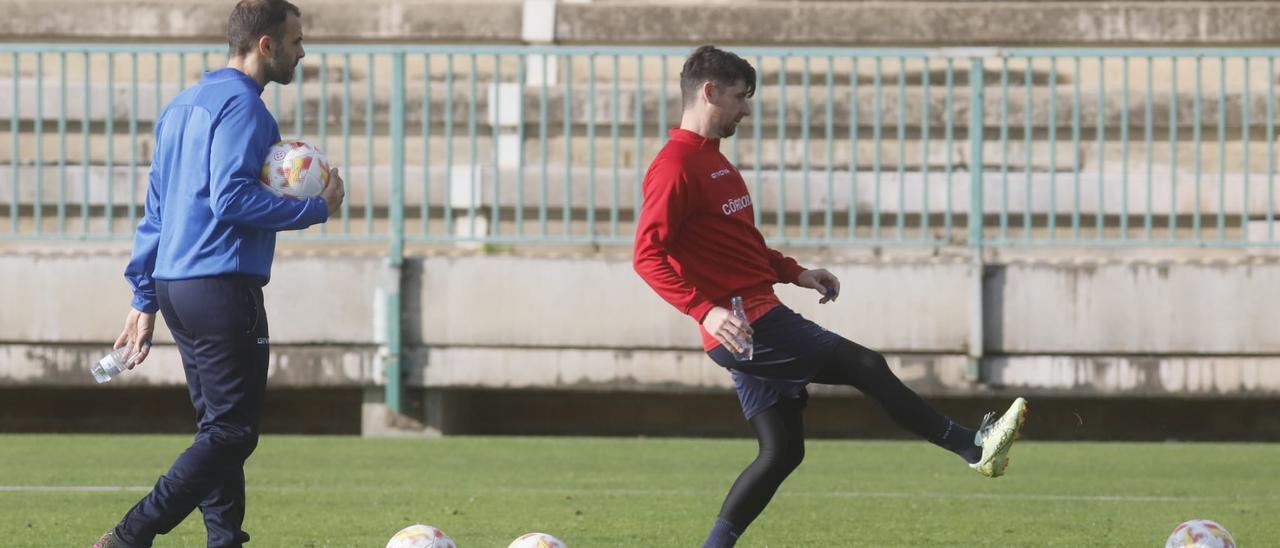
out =
<svg viewBox="0 0 1280 548"><path fill-rule="evenodd" d="M189 438L0 435L0 545L87 547ZM253 547L383 547L435 525L462 548L699 545L746 439L265 435L246 470ZM1280 539L1280 446L1019 442L987 479L923 442L812 440L742 547L1156 547L1190 517ZM102 489L118 488L118 489ZM193 513L156 547L201 547Z"/></svg>

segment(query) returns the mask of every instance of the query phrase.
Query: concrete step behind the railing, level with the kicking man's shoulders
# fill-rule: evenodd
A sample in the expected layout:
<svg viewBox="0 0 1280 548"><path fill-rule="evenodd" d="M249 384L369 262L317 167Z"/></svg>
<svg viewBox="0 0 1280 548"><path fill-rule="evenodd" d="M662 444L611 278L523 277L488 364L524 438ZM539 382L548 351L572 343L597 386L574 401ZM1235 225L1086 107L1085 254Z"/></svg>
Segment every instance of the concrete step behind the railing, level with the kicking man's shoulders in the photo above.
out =
<svg viewBox="0 0 1280 548"><path fill-rule="evenodd" d="M285 128L285 131L289 129ZM617 146L614 146L612 132L608 128L598 128L594 140L588 138L586 133L576 133L568 143L568 161L576 168L595 165L608 170L617 165L621 177L636 177L637 170L643 174L667 138L664 131L660 132L662 137L658 136L659 128L657 127L648 127L644 131L645 136L639 143L639 150L632 132L620 132ZM451 163L454 165L470 164L472 160L471 140L456 134L452 141L447 141L442 133L433 131L429 146L424 146L421 133L408 134L403 141L406 164L411 166L422 165L424 161L436 166ZM873 131L863 128L859 131L856 150L847 133L833 131L833 138L827 140L824 128L812 128L808 136L803 131L788 129L781 146L777 131L762 131L760 133L759 147L754 142L754 127L750 124L740 127L735 138L722 143L724 155L736 161L744 173L754 174L756 166L762 170L777 170L780 164L787 169L808 166L815 172L824 172L828 165L833 170L847 172L851 164L861 170L872 170L877 155L883 170L896 170L899 164L902 164L904 169L909 172L920 172L925 168L931 172L941 172L947 165L951 165L952 169L965 168L972 156L968 136L959 129L954 129L952 141L948 143L942 128L933 128L928 134L928 141L924 141L923 134L918 131L906 128L902 142L897 141L895 124L881 128L879 141L876 141ZM1249 143L1245 146L1239 133L1231 134L1229 132L1219 143L1216 131L1202 129L1201 143L1197 147L1193 142L1193 131L1179 129L1176 146L1169 143L1169 136L1165 132L1153 131L1152 146L1148 149L1142 129L1133 128L1128 136L1129 141L1125 142L1121 141L1121 134L1114 128L1108 128L1102 136L1101 151L1094 131L1082 129L1078 147L1073 142L1070 131L1060 133L1052 143L1046 136L1034 134L1028 149L1024 137L1009 134L1007 145L1005 145L1000 140L1001 129L988 128L986 131L987 138L983 141L983 164L992 169L1005 168L1014 173L1024 172L1028 168L1032 172L1050 172L1052 169L1059 173L1075 169L1097 173L1100 168L1107 172L1119 172L1128 165L1128 169L1135 175L1143 174L1146 165L1151 164L1156 170L1178 170L1193 177L1197 170L1198 154L1198 169L1204 177L1216 177L1220 170L1225 170L1228 174L1267 173L1275 166L1276 140L1268 142L1265 132L1262 134L1256 134L1256 131L1251 132ZM284 137L293 138L288 133ZM805 146L806 137L808 147ZM343 173L349 169L367 169L360 166L367 166L370 163L387 165L392 150L392 140L385 134L376 133L372 140L365 134L353 134L347 142L340 136L333 134L328 134L324 140L316 134L305 134L302 138L319 146L330 163L340 168ZM19 181L24 184L36 181L35 170L37 157L40 157L42 160L38 161L38 168L45 181L60 177L59 173L63 168L59 161L61 161L65 169L77 170L77 175L68 175L68 181L72 184L79 184L86 163L84 136L69 133L65 140L60 140L56 133L46 132L38 142L37 156L35 134L19 133L17 142L17 169L22 173ZM480 134L475 142L475 161L481 166L492 166L494 150L497 150L502 165L513 165L520 150L517 142L515 136L500 136L495 149L492 132ZM449 151L451 143L452 152ZM152 137L150 134L140 133L137 140L131 140L128 133L116 133L111 140L102 134L91 134L87 160L93 181L105 177L109 157L113 169L128 168L132 163L145 173L151 160L151 146ZM563 164L566 161L564 146L563 136L549 134L547 141L541 141L536 132L526 133L524 164L530 168L539 166L543 161L544 149L548 163ZM13 156L13 147L0 146L0 178L13 177L14 164L10 163L10 156ZM1272 161L1268 163L1268 159ZM120 174L116 173L116 177Z"/></svg>

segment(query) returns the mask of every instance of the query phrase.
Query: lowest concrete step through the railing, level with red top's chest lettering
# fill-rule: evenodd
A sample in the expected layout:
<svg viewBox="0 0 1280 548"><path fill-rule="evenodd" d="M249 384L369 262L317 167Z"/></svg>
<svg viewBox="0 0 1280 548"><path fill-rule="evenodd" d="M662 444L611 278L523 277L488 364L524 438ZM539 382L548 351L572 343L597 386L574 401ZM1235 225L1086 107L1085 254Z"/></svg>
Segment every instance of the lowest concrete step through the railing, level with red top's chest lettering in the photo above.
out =
<svg viewBox="0 0 1280 548"><path fill-rule="evenodd" d="M67 205L72 218L82 215L87 206L90 215L96 219L104 215L102 207L108 204L108 189L111 188L113 214L119 216L129 204L141 211L146 195L145 168L134 172L133 178L127 168L116 168L114 187L106 184L102 169L91 170L87 187L82 182L83 170L79 166L67 168L65 186L56 169L46 169L41 178L35 177L32 168L22 168L18 173L19 184L14 187L9 170L0 169L0 189L9 191L0 196L0 214L8 214L4 210L19 210L20 215L31 216L38 197L38 202L44 204L41 214L46 219L52 218L59 200ZM390 204L390 169L374 166L370 172L367 166L347 166L343 173L347 204L361 213L372 207L371 215L385 218ZM369 177L370 173L372 177ZM472 170L466 165L452 170L448 166L431 166L424 172L420 166L406 166L403 200L406 207L419 211L419 215L424 201L431 211L449 207L454 215L468 209L488 211L495 206L502 210L520 207L530 211L538 210L539 205L545 205L558 215L563 213L566 204L575 211L573 215L594 210L595 218L600 219L607 218L611 209L617 209L623 218L632 215L639 192L635 170L620 170L614 178L614 172L608 168L564 170L563 166L552 165L547 168L545 179L543 173L538 166L518 172L513 168L495 170L492 166ZM517 181L517 175L522 181ZM755 207L764 213L777 211L780 204L785 204L787 213L824 213L828 209L847 213L856 209L883 214L948 210L963 214L970 205L970 175L966 169L955 169L950 175L941 169L928 174L916 170L900 174L886 165L879 175L859 170L856 184L847 170L832 172L828 177L820 168L808 175L794 169L780 172L776 168L762 169L758 174L744 172L744 175L755 198ZM1070 213L1078 207L1083 214L1105 211L1117 215L1123 213L1124 204L1130 215L1143 215L1148 209L1153 209L1155 214L1167 215L1172 207L1179 214L1221 210L1225 215L1253 218L1277 209L1276 204L1268 202L1274 195L1268 188L1276 177L1266 173L1231 173L1221 178L1216 172L1201 177L1178 173L1174 178L1166 170L1158 170L1148 183L1144 174L1139 173L1126 177L1116 172L1100 175L1089 170L1079 174L1037 170L1028 174L988 168L983 179L987 213ZM37 181L42 182L38 187L35 184ZM602 215L602 211L605 214Z"/></svg>

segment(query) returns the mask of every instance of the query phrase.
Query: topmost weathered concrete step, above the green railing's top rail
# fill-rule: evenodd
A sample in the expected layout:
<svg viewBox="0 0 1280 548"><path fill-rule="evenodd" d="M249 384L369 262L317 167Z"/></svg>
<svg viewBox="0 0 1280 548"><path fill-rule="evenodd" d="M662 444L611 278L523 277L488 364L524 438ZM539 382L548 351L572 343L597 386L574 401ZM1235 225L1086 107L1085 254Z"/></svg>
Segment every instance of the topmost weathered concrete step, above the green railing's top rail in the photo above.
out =
<svg viewBox="0 0 1280 548"><path fill-rule="evenodd" d="M303 8L308 41L518 42L520 0L369 0L353 6L317 1ZM221 38L227 6L183 0L97 3L5 0L0 35L20 40ZM1009 45L1009 44L1275 44L1268 22L1280 6L1265 1L787 1L723 4L626 0L559 3L559 44L733 44L742 37L780 45ZM40 24L32 24L38 22ZM645 24L636 24L645 22ZM762 35L759 28L769 28Z"/></svg>

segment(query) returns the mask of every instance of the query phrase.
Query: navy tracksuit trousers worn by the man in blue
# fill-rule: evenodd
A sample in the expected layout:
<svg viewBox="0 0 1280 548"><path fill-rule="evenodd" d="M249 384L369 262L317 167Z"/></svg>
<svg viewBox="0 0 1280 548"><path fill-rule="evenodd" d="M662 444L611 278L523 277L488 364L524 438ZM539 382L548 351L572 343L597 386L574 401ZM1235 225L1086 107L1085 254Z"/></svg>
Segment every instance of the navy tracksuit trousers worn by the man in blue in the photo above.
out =
<svg viewBox="0 0 1280 548"><path fill-rule="evenodd" d="M244 460L257 447L270 341L265 279L224 275L156 280L160 314L173 333L196 408L196 439L124 516L115 535L150 547L200 508L209 547L248 542Z"/></svg>

